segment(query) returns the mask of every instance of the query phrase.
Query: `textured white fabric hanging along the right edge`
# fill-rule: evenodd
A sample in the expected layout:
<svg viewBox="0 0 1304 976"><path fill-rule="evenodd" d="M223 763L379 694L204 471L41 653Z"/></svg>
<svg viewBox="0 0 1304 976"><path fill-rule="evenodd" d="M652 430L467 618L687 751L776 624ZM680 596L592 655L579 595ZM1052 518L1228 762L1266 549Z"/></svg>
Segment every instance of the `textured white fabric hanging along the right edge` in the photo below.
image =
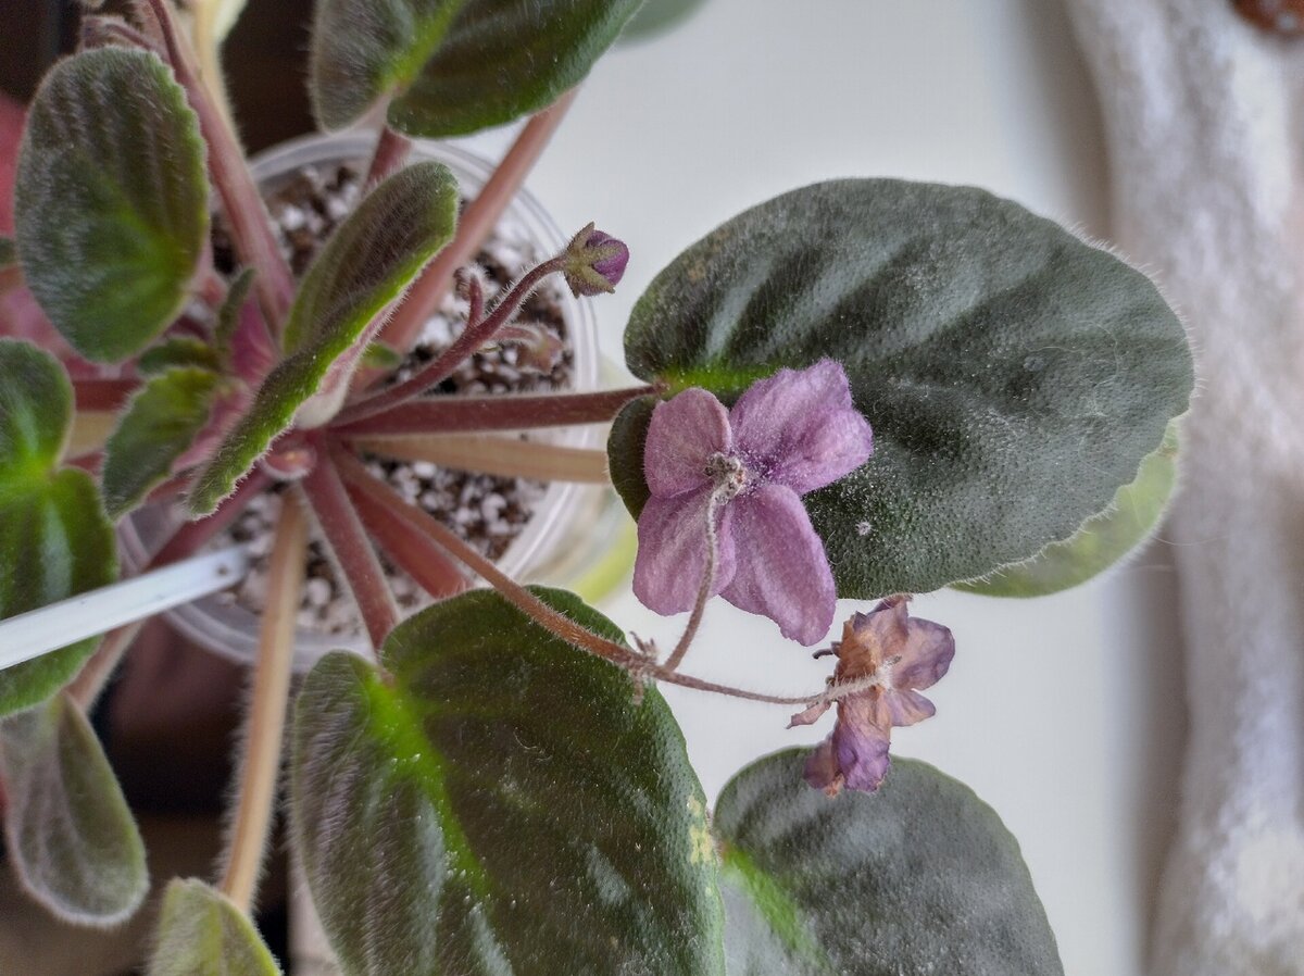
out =
<svg viewBox="0 0 1304 976"><path fill-rule="evenodd" d="M1304 40L1254 30L1231 0L1069 4L1114 236L1198 351L1167 530L1191 732L1151 972L1301 976Z"/></svg>

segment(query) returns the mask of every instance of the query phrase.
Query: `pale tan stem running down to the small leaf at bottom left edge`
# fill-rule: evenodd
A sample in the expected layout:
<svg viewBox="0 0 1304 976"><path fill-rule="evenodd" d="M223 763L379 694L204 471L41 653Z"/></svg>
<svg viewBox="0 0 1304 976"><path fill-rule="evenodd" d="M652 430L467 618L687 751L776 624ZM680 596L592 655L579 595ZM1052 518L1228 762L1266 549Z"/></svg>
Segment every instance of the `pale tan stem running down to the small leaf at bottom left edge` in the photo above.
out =
<svg viewBox="0 0 1304 976"><path fill-rule="evenodd" d="M253 703L244 732L239 801L222 877L222 891L244 912L253 907L276 800L289 663L295 651L295 612L304 587L306 548L308 519L303 504L296 492L287 492L271 549Z"/></svg>

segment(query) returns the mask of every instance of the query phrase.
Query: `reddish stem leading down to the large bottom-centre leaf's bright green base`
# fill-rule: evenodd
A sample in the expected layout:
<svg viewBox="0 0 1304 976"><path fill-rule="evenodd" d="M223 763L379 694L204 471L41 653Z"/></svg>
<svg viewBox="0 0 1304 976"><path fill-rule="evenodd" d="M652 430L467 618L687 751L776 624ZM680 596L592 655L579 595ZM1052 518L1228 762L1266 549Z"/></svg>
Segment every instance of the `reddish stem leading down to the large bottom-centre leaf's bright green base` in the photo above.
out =
<svg viewBox="0 0 1304 976"><path fill-rule="evenodd" d="M399 611L385 582L385 570L376 549L366 538L366 531L340 481L330 445L325 437L313 437L310 442L317 450L317 465L304 476L301 484L317 515L322 535L326 536L326 543L353 594L372 647L379 650L385 637L398 624ZM335 457L339 457L339 451Z"/></svg>

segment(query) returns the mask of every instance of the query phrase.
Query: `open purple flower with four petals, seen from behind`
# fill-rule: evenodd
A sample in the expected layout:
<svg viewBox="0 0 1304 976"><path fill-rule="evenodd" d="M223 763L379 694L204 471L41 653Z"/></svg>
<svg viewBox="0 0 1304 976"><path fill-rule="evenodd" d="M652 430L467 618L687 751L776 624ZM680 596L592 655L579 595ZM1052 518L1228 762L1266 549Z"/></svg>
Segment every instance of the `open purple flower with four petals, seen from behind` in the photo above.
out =
<svg viewBox="0 0 1304 976"><path fill-rule="evenodd" d="M690 609L715 535L712 595L769 617L784 637L823 639L833 574L801 496L872 450L846 373L831 359L780 369L730 411L700 389L659 403L643 453L652 497L639 515L635 595L657 613Z"/></svg>

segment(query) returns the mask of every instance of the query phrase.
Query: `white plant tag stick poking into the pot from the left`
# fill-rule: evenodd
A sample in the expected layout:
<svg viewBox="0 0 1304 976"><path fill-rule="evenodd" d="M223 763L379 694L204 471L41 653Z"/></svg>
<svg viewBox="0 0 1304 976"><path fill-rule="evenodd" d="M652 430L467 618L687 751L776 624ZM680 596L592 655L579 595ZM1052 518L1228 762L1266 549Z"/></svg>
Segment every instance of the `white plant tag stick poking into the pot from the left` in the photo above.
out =
<svg viewBox="0 0 1304 976"><path fill-rule="evenodd" d="M20 613L0 621L0 669L226 590L246 572L249 553L232 545Z"/></svg>

